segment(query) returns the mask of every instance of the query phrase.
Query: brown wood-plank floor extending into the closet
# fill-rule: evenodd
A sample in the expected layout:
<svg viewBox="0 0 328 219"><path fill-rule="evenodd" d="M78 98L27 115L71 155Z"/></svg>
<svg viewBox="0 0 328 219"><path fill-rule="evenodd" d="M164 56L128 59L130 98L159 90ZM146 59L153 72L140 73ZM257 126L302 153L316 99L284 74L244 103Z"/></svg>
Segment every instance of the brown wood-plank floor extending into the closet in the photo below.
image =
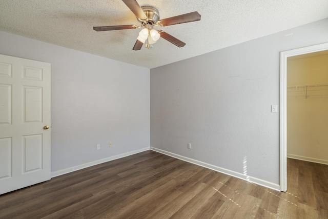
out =
<svg viewBox="0 0 328 219"><path fill-rule="evenodd" d="M145 151L1 195L0 218L328 218L328 165L288 159L284 193Z"/></svg>

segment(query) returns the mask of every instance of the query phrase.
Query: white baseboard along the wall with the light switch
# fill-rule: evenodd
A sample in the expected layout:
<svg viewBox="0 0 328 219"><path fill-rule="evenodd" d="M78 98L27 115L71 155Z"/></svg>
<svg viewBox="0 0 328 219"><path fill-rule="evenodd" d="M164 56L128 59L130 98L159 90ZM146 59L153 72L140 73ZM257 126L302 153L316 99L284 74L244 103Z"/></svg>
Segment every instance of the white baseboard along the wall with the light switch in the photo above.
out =
<svg viewBox="0 0 328 219"><path fill-rule="evenodd" d="M201 162L201 161L197 161L197 160L194 160L192 158L181 156L181 155L171 153L171 152L168 152L168 151L165 151L165 150L161 150L161 149L158 149L158 148L150 147L150 150L156 151L158 153L166 154L168 156L172 156L172 157L177 158L179 160L186 161L186 162L189 162L189 163L201 166L201 167L205 167L205 168L208 168L208 169L211 169L211 170L215 170L215 171L220 172L220 173L231 175L233 177L240 178L241 180L245 180L245 181L260 185L260 186L264 186L264 187L267 187L267 188L270 188L270 189L273 189L273 190L276 190L276 191L280 191L280 185L274 184L274 183L271 183L271 182L268 182L268 181L264 181L264 180L261 180L259 178L244 175L242 173L238 173L238 172L228 170L228 169L225 169L225 168L217 167L217 166L214 166L214 165L211 165L211 164L207 164L207 163L204 163L204 162Z"/></svg>

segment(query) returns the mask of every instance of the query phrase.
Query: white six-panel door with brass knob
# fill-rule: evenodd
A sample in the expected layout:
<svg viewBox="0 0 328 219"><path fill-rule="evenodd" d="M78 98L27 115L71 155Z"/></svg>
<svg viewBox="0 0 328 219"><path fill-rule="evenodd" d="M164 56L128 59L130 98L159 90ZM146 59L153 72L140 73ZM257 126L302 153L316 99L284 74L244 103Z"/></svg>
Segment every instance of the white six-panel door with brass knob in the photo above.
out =
<svg viewBox="0 0 328 219"><path fill-rule="evenodd" d="M0 54L0 194L47 180L50 64Z"/></svg>

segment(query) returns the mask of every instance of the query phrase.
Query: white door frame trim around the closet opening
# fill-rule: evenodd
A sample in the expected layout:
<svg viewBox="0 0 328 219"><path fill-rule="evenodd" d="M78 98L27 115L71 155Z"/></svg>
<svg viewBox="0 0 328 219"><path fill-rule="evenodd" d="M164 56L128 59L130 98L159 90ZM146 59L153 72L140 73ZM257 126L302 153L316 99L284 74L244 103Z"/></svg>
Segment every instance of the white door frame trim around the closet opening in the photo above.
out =
<svg viewBox="0 0 328 219"><path fill-rule="evenodd" d="M328 43L280 52L280 191L287 190L287 58L328 50Z"/></svg>

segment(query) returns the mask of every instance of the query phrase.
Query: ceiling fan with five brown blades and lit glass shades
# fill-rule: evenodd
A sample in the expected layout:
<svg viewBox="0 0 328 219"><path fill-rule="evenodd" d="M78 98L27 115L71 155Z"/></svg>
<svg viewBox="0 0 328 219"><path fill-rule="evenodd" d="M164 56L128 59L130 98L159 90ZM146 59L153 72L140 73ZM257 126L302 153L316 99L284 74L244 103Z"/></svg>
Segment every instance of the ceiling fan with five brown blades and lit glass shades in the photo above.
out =
<svg viewBox="0 0 328 219"><path fill-rule="evenodd" d="M200 14L197 11L181 14L174 17L169 17L165 19L159 19L159 12L156 8L152 6L141 6L136 0L122 0L130 10L136 15L137 20L141 23L141 26L136 25L117 25L117 26L103 26L103 27L93 27L95 31L107 31L107 30L125 30L125 29L136 29L144 27L139 32L137 41L134 44L133 50L140 50L142 45L146 42L146 48L150 48L152 44L156 43L160 37L166 39L170 43L176 45L177 47L183 47L186 44L179 39L171 36L170 34L162 31L155 30L154 26L170 26L175 24L182 24L188 22L200 21Z"/></svg>

